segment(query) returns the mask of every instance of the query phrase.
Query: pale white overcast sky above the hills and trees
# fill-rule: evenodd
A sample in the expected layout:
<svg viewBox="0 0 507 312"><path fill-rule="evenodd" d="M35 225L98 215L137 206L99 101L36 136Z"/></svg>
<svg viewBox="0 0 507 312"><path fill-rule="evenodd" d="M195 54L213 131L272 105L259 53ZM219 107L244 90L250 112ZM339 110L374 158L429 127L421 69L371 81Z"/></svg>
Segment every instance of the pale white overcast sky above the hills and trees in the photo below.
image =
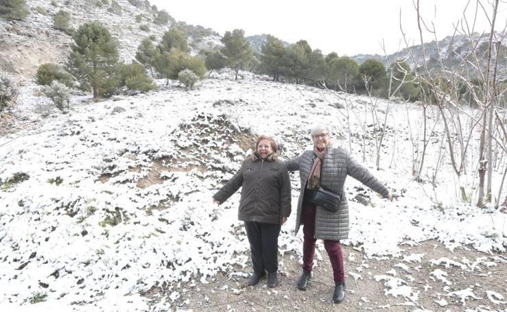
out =
<svg viewBox="0 0 507 312"><path fill-rule="evenodd" d="M246 36L272 34L289 43L305 39L312 49L332 51L339 56L355 54L393 53L405 47L400 42L400 10L403 29L418 40L416 11L412 0L151 0L158 10L165 9L177 21L210 27L220 35L226 31L244 29ZM482 0L491 15L493 0ZM434 22L440 40L453 33L463 17L467 0L420 0L421 16ZM477 0L471 0L466 16L473 21ZM475 31L490 29L481 11ZM497 27L502 30L507 20L507 0L500 0ZM486 31L488 32L488 31ZM425 42L434 36L426 33Z"/></svg>

